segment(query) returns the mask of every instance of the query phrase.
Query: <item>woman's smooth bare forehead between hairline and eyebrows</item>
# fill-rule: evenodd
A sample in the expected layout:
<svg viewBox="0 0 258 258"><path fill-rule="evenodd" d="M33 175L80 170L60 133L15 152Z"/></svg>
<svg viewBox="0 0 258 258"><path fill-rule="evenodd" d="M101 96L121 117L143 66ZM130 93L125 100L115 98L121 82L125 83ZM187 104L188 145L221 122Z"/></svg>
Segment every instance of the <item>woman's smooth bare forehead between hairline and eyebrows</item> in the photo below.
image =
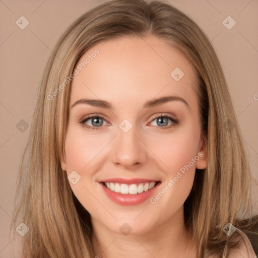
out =
<svg viewBox="0 0 258 258"><path fill-rule="evenodd" d="M154 36L100 42L81 56L76 69L71 105L80 98L106 99L120 105L168 94L189 102L196 99L196 74L190 61Z"/></svg>

